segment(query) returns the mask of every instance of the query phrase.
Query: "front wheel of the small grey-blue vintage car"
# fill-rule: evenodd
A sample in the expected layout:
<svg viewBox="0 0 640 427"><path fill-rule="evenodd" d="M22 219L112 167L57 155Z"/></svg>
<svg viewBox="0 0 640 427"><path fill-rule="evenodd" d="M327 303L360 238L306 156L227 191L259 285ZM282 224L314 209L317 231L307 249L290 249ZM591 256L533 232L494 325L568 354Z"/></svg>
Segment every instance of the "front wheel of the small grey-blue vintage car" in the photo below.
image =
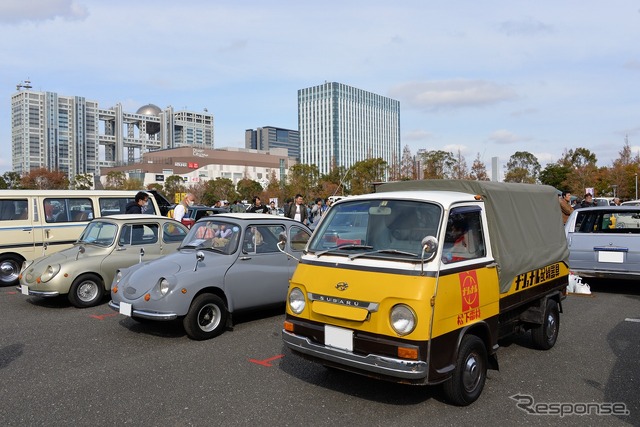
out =
<svg viewBox="0 0 640 427"><path fill-rule="evenodd" d="M206 340L224 331L227 315L227 307L220 297L202 294L193 300L182 323L189 338Z"/></svg>

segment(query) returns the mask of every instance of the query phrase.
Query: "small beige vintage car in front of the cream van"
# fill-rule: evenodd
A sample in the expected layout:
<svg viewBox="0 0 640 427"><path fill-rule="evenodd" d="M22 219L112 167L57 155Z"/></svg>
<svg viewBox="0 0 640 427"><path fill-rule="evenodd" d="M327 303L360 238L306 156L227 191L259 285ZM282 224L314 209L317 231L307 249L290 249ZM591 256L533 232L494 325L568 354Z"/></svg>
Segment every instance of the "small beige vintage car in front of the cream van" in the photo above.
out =
<svg viewBox="0 0 640 427"><path fill-rule="evenodd" d="M176 251L188 231L156 215L94 219L71 248L25 263L18 289L39 297L66 294L76 307L97 305L118 268Z"/></svg>

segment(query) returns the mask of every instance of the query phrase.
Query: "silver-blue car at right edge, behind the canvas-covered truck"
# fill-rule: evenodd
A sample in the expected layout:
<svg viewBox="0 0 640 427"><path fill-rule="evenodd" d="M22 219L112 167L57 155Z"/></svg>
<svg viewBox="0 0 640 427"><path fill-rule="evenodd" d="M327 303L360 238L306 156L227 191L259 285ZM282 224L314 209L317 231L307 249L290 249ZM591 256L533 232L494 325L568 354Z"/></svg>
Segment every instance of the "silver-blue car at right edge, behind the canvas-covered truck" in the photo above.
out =
<svg viewBox="0 0 640 427"><path fill-rule="evenodd" d="M569 268L581 277L640 277L640 206L576 209L565 225Z"/></svg>

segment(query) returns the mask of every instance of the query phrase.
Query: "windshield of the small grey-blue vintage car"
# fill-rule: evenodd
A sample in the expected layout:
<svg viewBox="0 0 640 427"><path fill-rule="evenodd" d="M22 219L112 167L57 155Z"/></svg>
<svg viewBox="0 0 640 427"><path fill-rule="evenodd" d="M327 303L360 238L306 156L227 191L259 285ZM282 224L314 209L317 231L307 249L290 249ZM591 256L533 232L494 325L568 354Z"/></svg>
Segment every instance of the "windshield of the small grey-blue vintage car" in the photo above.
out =
<svg viewBox="0 0 640 427"><path fill-rule="evenodd" d="M181 248L210 249L232 254L238 248L240 227L226 221L208 219L198 221L182 241Z"/></svg>

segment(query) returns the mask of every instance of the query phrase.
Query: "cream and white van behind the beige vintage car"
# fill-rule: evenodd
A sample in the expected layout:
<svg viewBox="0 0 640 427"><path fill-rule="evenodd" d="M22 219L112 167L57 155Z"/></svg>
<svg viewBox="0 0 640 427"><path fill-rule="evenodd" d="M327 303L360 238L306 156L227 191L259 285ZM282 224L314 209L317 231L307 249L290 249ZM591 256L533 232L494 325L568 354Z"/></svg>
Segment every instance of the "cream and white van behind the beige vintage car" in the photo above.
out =
<svg viewBox="0 0 640 427"><path fill-rule="evenodd" d="M137 191L0 190L0 286L22 263L70 247L93 218L125 213ZM153 195L145 213L159 214Z"/></svg>

